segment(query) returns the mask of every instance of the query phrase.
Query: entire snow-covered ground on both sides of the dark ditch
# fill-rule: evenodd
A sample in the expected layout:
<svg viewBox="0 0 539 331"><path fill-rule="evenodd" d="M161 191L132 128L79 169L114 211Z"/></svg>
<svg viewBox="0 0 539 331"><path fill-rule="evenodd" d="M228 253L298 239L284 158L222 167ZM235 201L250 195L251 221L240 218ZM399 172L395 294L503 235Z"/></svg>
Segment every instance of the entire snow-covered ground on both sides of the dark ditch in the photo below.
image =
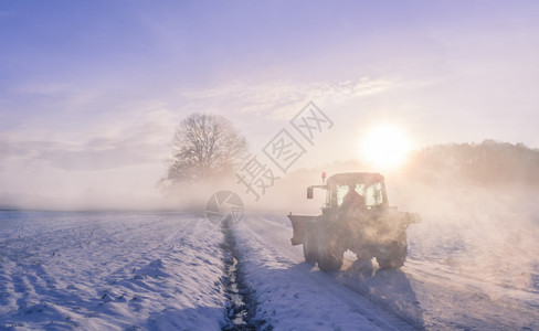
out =
<svg viewBox="0 0 539 331"><path fill-rule="evenodd" d="M509 273L413 226L401 270L347 253L326 274L283 215L245 216L225 245L190 214L0 212L0 330L232 330L231 253L261 330L539 330L537 244L520 237L529 256Z"/></svg>

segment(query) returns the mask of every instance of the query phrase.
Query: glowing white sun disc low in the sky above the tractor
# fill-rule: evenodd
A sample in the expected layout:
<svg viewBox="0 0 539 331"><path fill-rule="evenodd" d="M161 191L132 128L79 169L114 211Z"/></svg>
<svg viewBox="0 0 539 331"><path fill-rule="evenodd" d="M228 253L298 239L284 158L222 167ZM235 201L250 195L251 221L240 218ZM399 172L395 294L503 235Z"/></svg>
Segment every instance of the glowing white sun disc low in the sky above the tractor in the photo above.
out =
<svg viewBox="0 0 539 331"><path fill-rule="evenodd" d="M410 138L395 125L372 127L361 138L361 159L377 168L398 168L404 162L410 150Z"/></svg>

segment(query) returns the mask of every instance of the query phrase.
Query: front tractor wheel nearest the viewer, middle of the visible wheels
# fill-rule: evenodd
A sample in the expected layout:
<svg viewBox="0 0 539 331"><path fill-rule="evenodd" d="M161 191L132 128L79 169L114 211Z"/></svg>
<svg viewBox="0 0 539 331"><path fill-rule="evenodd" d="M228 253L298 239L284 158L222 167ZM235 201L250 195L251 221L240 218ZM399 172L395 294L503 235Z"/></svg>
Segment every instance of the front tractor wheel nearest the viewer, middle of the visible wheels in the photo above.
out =
<svg viewBox="0 0 539 331"><path fill-rule="evenodd" d="M342 266L342 249L337 237L327 226L319 226L318 234L318 268L323 271L336 271Z"/></svg>

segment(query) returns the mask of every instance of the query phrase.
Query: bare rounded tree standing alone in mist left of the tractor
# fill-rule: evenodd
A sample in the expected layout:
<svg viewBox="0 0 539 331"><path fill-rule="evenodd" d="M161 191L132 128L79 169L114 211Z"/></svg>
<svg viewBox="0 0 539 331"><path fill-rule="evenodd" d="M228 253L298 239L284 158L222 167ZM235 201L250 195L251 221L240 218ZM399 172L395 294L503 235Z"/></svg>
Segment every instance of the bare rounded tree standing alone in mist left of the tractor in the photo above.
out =
<svg viewBox="0 0 539 331"><path fill-rule="evenodd" d="M170 184L231 175L247 154L246 139L219 115L192 114L176 128L168 162Z"/></svg>

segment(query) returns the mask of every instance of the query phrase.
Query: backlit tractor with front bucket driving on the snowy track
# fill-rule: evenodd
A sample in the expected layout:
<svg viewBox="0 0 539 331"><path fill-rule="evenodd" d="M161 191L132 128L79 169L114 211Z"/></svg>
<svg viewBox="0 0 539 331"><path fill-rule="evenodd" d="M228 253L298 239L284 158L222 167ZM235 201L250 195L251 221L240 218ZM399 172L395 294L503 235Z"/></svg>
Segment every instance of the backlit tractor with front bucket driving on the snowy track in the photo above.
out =
<svg viewBox="0 0 539 331"><path fill-rule="evenodd" d="M288 215L292 245L303 245L305 260L318 263L323 271L342 266L347 249L358 259L377 259L381 268L400 268L408 252L406 228L421 221L419 214L389 206L384 178L373 172L337 173L323 184L307 188L326 191L321 215Z"/></svg>

